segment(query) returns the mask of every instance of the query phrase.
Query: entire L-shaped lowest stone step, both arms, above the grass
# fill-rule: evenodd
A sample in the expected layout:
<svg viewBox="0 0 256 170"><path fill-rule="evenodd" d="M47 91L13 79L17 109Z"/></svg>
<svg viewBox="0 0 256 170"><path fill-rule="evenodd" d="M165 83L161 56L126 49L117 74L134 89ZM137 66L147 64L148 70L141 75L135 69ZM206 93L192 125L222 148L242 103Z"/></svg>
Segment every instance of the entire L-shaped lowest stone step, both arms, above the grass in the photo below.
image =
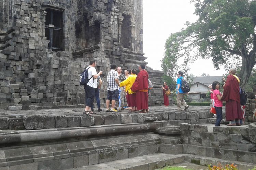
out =
<svg viewBox="0 0 256 170"><path fill-rule="evenodd" d="M77 168L71 168L66 170L153 170L156 168L162 168L164 166L170 166L179 164L186 160L187 162L197 165L218 165L221 164L225 167L226 164L237 165L239 170L248 170L256 166L256 164L250 164L245 162L229 161L224 159L211 158L207 156L198 156L192 154L165 154L156 153L150 155L143 155L134 158L126 158L122 160L115 160L111 162L94 164L88 166L82 166ZM206 168L206 167L205 167Z"/></svg>

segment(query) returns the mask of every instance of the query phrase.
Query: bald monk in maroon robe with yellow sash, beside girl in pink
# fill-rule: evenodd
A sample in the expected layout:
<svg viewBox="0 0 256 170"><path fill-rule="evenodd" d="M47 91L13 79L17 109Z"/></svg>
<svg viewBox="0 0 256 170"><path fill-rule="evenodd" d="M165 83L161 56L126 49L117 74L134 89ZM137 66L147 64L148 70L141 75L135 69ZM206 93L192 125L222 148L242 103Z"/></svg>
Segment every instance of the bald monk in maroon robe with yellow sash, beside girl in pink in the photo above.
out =
<svg viewBox="0 0 256 170"><path fill-rule="evenodd" d="M224 85L222 100L226 101L226 120L230 121L229 126L240 126L240 119L243 119L240 105L239 79L236 75L235 68L229 70L229 75Z"/></svg>

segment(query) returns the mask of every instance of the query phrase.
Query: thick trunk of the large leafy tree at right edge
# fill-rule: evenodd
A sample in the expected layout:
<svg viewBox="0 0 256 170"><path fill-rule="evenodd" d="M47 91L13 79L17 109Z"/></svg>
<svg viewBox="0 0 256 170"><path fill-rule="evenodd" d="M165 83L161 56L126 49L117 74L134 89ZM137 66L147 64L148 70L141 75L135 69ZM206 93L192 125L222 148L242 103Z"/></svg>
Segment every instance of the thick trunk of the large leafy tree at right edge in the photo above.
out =
<svg viewBox="0 0 256 170"><path fill-rule="evenodd" d="M242 67L241 71L239 74L239 77L242 79L240 82L240 86L243 88L245 84L247 83L250 74L252 72L252 69L254 65L256 64L255 62L255 53L253 54L243 54L242 53Z"/></svg>

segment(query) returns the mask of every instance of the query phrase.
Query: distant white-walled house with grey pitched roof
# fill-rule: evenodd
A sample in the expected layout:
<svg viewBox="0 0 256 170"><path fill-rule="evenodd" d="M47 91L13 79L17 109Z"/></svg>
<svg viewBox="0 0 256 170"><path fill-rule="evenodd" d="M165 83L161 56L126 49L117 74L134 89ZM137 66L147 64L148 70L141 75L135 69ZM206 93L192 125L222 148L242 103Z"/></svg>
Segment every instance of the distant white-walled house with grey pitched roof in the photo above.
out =
<svg viewBox="0 0 256 170"><path fill-rule="evenodd" d="M221 82L222 76L203 76L196 77L190 87L188 99L189 102L207 102L210 99L206 99L208 92L207 88L214 81Z"/></svg>

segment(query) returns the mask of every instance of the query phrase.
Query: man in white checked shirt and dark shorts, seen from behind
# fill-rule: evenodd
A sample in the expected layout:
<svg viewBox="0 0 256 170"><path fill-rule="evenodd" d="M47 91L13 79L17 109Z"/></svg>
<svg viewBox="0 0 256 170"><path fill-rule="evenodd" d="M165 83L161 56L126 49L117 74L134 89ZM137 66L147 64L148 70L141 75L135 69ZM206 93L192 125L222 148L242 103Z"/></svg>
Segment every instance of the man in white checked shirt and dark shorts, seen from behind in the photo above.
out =
<svg viewBox="0 0 256 170"><path fill-rule="evenodd" d="M117 110L114 107L115 107L116 100L118 100L118 89L119 89L120 84L118 81L117 71L115 70L116 65L111 64L110 68L111 68L111 70L108 72L108 77L107 77L108 94L107 94L107 100L106 100L106 107L107 107L106 112L117 112ZM109 108L110 100L111 100L111 104L112 104L111 108Z"/></svg>

